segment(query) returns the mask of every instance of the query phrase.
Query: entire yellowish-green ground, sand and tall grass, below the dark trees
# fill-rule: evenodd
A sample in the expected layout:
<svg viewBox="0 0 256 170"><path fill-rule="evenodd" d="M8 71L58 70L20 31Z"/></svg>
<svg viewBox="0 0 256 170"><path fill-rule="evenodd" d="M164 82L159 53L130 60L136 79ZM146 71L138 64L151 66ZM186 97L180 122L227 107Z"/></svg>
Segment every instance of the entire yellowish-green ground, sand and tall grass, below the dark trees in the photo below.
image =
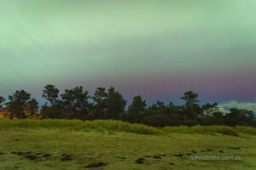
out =
<svg viewBox="0 0 256 170"><path fill-rule="evenodd" d="M254 130L216 126L157 129L116 121L2 119L0 169L254 170ZM194 161L190 156L241 156L242 160Z"/></svg>

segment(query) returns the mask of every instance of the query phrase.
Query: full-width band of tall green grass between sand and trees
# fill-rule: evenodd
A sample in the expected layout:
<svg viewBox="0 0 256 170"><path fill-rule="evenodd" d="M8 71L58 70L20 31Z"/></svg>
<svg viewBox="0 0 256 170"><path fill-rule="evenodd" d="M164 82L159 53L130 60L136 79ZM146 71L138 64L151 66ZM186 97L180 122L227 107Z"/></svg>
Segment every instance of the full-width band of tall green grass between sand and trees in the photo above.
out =
<svg viewBox="0 0 256 170"><path fill-rule="evenodd" d="M60 119L46 119L46 120L32 120L23 119L12 121L9 119L0 119L0 128L9 127L26 127L26 128L67 128L76 131L88 131L90 129L104 132L128 132L137 134L154 134L162 135L169 133L186 133L186 134L212 134L221 133L231 136L239 136L239 133L247 133L256 135L256 128L254 127L227 127L227 126L179 126L179 127L148 127L143 124L133 124L129 122L121 122L114 120L94 120L94 121L80 121L80 120L60 120Z"/></svg>

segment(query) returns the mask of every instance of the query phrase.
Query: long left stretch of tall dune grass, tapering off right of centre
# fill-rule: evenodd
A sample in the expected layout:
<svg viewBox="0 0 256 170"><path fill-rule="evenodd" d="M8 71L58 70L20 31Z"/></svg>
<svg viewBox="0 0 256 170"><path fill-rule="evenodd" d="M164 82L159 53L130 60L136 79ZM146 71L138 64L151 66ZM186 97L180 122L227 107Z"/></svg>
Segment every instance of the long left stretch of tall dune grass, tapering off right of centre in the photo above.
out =
<svg viewBox="0 0 256 170"><path fill-rule="evenodd" d="M44 120L32 120L23 119L17 121L11 121L9 119L0 119L0 128L8 127L27 127L27 128L68 128L70 130L90 130L95 129L101 132L116 131L116 132L129 132L138 134L162 134L164 133L158 128L148 127L143 124L131 124L121 121L79 121L79 120L60 120L60 119L44 119Z"/></svg>

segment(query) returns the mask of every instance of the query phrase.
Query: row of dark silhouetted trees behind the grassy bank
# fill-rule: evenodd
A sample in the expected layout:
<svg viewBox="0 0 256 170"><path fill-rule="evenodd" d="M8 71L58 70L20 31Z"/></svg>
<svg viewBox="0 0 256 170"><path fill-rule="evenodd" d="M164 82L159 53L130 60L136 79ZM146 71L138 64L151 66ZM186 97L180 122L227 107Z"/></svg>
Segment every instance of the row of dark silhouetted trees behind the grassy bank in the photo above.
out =
<svg viewBox="0 0 256 170"><path fill-rule="evenodd" d="M48 102L38 111L38 101L24 90L9 95L7 101L0 96L0 112L10 119L113 119L154 127L197 124L256 127L253 111L233 108L224 113L217 103L199 105L198 94L191 91L181 97L185 105L173 105L172 102L165 105L160 101L147 105L146 100L136 96L127 111L126 100L114 88L97 88L95 94L90 96L83 87L60 93L54 85L47 85L42 97Z"/></svg>

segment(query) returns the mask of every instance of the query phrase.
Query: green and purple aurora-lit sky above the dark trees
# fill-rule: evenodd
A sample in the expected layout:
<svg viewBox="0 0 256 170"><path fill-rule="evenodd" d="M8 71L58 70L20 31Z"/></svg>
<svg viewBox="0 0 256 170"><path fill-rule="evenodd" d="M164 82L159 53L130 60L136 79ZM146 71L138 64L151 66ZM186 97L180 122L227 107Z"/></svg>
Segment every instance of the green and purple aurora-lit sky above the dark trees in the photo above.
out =
<svg viewBox="0 0 256 170"><path fill-rule="evenodd" d="M0 0L0 95L115 87L256 111L256 1Z"/></svg>

